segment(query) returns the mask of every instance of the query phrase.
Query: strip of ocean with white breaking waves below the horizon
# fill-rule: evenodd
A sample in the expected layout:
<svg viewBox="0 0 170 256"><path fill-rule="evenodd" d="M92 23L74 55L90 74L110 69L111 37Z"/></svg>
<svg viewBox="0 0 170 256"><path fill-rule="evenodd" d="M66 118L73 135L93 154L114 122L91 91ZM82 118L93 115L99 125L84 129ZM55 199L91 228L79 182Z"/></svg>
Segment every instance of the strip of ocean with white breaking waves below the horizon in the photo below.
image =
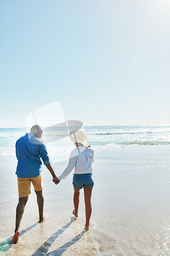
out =
<svg viewBox="0 0 170 256"><path fill-rule="evenodd" d="M116 125L84 126L87 138L95 149L170 145L170 125ZM0 156L15 155L16 140L27 133L26 128L0 128ZM57 140L47 143L49 153L72 150L72 142L65 136L65 129L57 130ZM47 134L46 138L51 134Z"/></svg>

